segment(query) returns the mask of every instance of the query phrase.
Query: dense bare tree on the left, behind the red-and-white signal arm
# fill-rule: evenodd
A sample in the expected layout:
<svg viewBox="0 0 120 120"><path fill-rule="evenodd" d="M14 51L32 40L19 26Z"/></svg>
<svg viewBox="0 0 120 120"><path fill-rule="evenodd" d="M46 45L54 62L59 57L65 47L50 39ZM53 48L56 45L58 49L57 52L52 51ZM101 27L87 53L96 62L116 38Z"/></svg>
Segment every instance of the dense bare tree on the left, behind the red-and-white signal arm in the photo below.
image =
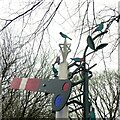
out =
<svg viewBox="0 0 120 120"><path fill-rule="evenodd" d="M16 38L17 39L17 38ZM16 91L9 88L14 76L48 78L51 76L50 51L33 51L33 46L20 44L10 32L5 32L0 45L2 70L2 117L6 118L46 118L52 115L51 95ZM29 46L29 49L27 47ZM51 51L52 54L52 51ZM54 58L54 56L53 56ZM44 113L44 114L43 114Z"/></svg>

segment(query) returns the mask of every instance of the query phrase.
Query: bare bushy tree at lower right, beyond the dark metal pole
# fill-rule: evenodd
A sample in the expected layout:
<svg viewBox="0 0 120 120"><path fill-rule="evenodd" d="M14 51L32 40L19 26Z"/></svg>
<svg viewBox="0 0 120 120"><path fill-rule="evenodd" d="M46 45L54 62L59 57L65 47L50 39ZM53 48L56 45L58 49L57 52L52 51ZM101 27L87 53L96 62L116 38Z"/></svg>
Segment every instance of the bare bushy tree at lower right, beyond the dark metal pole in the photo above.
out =
<svg viewBox="0 0 120 120"><path fill-rule="evenodd" d="M91 102L95 106L99 118L109 118L110 120L117 118L120 99L118 81L118 74L112 71L96 73L90 80Z"/></svg>

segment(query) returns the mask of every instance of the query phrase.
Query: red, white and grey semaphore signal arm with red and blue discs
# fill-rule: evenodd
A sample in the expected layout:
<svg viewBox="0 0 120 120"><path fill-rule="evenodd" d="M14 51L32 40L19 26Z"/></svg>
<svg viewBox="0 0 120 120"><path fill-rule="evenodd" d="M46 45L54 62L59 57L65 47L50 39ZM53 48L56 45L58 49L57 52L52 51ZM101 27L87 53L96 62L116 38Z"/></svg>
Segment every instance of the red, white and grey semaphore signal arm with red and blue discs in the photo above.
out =
<svg viewBox="0 0 120 120"><path fill-rule="evenodd" d="M10 87L12 89L54 94L52 99L53 111L60 111L65 106L71 93L71 82L67 79L14 78Z"/></svg>

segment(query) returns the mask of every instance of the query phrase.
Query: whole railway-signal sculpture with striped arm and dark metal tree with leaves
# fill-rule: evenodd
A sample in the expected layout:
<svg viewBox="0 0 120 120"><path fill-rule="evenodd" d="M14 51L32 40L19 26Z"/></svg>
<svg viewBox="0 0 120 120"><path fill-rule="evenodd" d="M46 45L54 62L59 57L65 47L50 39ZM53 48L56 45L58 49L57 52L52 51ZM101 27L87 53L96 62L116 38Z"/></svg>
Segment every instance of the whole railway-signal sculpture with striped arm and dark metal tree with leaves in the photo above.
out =
<svg viewBox="0 0 120 120"><path fill-rule="evenodd" d="M102 30L102 28L100 30ZM99 36L104 35L105 33L107 32L106 31L101 32L94 38L88 35L87 46L83 53L83 57L71 58L73 62L69 65L67 65L66 59L67 59L68 53L71 52L71 49L70 49L71 45L67 44L66 39L68 38L71 40L71 38L69 38L67 35L62 33L61 36L65 40L64 40L64 44L59 44L59 47L62 53L63 61L60 63L60 56L58 56L55 63L52 65L52 70L55 78L54 79L14 78L13 81L11 82L11 88L52 93L54 94L54 97L52 99L53 111L61 111L65 105L70 105L71 103L77 103L78 105L80 105L79 109L83 110L84 119L90 118L91 103L89 102L89 95L88 95L88 92L89 92L88 81L92 77L92 72L90 71L90 69L96 66L96 64L90 67L89 64L86 62L86 57L94 52L97 52L100 49L103 49L108 45L107 43L103 43L95 47L95 44L94 44L94 40ZM92 52L87 53L88 48L91 48ZM58 71L55 68L56 64L60 66L61 70ZM76 66L77 68L72 72L68 72L69 69L73 66ZM77 82L72 82L73 76L78 73L81 75L81 80ZM80 92L82 92L82 94L78 96L74 96L73 98L69 99L72 87L75 87L79 84L81 84L81 86L83 87L83 91L81 90L82 87L79 89ZM75 100L75 98L79 96L80 98L83 98L83 99L80 101Z"/></svg>

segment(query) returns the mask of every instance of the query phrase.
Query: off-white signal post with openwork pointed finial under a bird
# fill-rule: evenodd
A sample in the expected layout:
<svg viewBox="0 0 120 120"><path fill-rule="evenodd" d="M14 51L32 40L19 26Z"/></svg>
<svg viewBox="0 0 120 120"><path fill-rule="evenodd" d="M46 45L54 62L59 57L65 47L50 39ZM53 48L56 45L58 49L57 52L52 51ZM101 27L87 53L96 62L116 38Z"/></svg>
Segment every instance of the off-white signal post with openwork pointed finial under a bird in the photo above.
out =
<svg viewBox="0 0 120 120"><path fill-rule="evenodd" d="M59 44L62 57L63 57L63 62L60 63L59 65L59 79L67 79L68 78L68 64L66 61L66 58L68 56L68 53L71 51L70 50L70 44L67 44L66 39L64 41L64 44ZM65 106L61 111L56 112L56 119L59 118L68 118L68 106Z"/></svg>

